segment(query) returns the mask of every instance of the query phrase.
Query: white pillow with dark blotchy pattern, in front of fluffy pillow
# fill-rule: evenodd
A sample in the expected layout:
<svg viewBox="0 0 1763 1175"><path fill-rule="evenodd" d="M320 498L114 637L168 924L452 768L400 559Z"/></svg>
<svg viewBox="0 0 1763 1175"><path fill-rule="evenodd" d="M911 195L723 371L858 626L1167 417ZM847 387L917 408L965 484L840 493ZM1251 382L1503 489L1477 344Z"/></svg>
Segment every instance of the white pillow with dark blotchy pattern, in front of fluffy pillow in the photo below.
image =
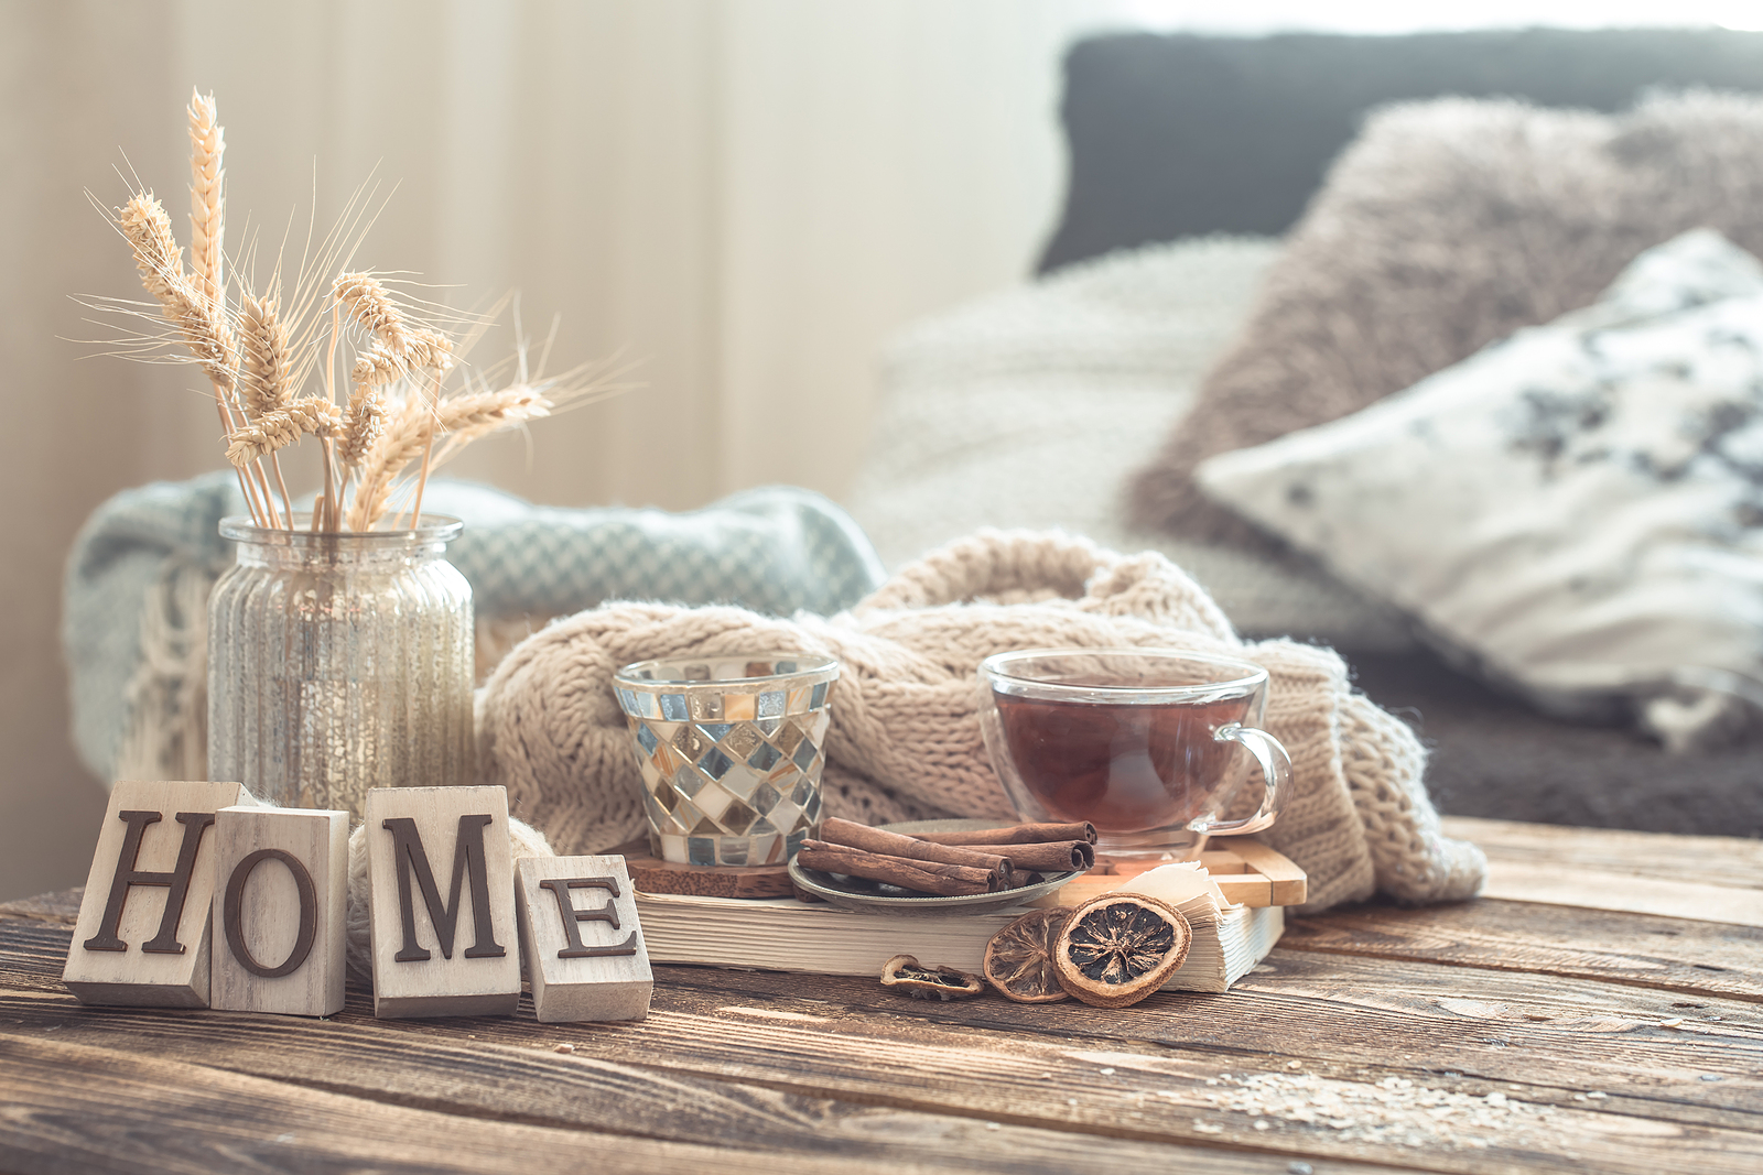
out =
<svg viewBox="0 0 1763 1175"><path fill-rule="evenodd" d="M1763 266L1712 231L1594 307L1199 481L1564 715L1763 699Z"/></svg>

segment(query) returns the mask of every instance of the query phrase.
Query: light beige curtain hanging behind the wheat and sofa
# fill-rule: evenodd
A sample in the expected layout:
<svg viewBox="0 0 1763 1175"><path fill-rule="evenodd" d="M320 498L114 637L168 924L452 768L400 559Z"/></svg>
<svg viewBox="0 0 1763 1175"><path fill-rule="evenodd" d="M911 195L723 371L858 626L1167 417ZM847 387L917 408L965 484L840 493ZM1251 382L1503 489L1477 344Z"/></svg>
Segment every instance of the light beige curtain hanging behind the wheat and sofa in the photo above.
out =
<svg viewBox="0 0 1763 1175"><path fill-rule="evenodd" d="M0 0L0 898L85 876L100 814L67 742L56 624L109 493L220 465L187 366L81 356L69 294L134 296L85 192L138 174L187 243L183 107L227 130L227 247L393 192L360 266L561 315L555 363L617 400L455 472L557 504L672 509L763 483L837 497L878 344L1021 278L1061 188L1058 56L1100 0L571 4ZM376 171L377 166L377 171ZM293 222L289 220L294 213ZM506 351L504 333L480 354Z"/></svg>

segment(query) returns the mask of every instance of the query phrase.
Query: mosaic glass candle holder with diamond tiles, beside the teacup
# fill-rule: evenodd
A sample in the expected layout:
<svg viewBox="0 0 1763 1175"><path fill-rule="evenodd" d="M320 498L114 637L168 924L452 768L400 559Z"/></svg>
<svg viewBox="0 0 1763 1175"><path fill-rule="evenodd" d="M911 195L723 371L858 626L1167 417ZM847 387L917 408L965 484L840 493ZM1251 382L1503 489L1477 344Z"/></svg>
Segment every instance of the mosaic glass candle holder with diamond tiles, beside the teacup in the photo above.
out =
<svg viewBox="0 0 1763 1175"><path fill-rule="evenodd" d="M820 824L839 662L815 654L640 661L614 675L643 773L651 851L781 865Z"/></svg>

